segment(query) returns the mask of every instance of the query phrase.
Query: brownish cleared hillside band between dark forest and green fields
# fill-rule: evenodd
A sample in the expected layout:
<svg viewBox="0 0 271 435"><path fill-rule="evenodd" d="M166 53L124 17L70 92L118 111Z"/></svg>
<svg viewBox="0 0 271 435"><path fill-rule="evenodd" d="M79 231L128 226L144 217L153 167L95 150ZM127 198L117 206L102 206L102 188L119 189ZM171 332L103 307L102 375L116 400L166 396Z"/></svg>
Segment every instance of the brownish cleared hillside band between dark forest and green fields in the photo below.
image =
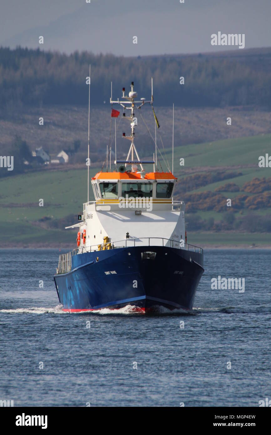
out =
<svg viewBox="0 0 271 435"><path fill-rule="evenodd" d="M116 96L117 89L115 90ZM143 94L147 97L147 94ZM176 100L174 100L176 101ZM111 124L110 104L102 107L90 107L90 157L91 162L99 165L106 157L106 147L111 140L114 149L114 119ZM74 141L80 141L78 152L70 159L71 164L82 164L87 151L88 110L80 106L45 106L24 107L14 114L7 113L0 117L0 155L13 153L15 136L20 136L30 148L37 147L48 150L50 155L56 155L62 149L73 148ZM164 147L171 147L172 141L172 107L155 107L159 120ZM154 116L151 107L147 105L137 112L138 126L136 144L140 155L153 153L154 144L147 132L143 116L151 134L154 136ZM39 125L39 117L44 119L44 125ZM231 117L231 125L227 118ZM110 136L111 127L111 136ZM127 142L121 138L122 132L129 131L127 120L117 118L117 151L127 155ZM271 133L271 112L259 107L175 107L174 108L174 143L175 147L187 144L202 144L247 136L258 136ZM158 144L161 144L158 135ZM113 142L112 142L113 141ZM201 147L201 145L200 145ZM17 153L14 151L14 161ZM98 165L98 166L99 166ZM12 176L10 172L8 174Z"/></svg>

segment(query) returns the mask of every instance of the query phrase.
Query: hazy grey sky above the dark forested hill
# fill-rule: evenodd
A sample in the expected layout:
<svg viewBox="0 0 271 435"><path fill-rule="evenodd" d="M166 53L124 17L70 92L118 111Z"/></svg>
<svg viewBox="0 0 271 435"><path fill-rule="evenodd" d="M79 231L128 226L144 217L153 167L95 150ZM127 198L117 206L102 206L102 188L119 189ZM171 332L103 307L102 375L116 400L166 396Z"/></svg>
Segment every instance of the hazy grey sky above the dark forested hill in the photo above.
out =
<svg viewBox="0 0 271 435"><path fill-rule="evenodd" d="M221 31L244 33L245 48L270 47L270 18L271 0L0 0L0 46L124 56L229 50L211 46Z"/></svg>

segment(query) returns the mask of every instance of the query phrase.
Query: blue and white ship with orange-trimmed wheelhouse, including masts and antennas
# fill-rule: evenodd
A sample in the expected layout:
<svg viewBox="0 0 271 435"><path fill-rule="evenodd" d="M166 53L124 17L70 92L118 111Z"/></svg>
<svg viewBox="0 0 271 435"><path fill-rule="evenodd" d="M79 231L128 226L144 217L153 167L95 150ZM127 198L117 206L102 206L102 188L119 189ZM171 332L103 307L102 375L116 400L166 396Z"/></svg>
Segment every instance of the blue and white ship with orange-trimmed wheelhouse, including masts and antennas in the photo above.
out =
<svg viewBox="0 0 271 435"><path fill-rule="evenodd" d="M103 165L91 179L94 201L89 201L88 128L87 202L78 215L78 222L66 227L77 228L77 246L60 254L54 275L64 311L127 307L129 312L151 313L193 308L204 273L203 249L187 243L185 204L173 199L177 183L173 155L172 170L168 165L165 172L157 169L159 123L153 100L152 82L149 101L137 99L134 82L127 95L122 88L121 97L113 100L111 83L115 158L111 165L112 147L107 146L106 169ZM126 160L123 157L117 160L116 118L120 110L113 108L115 104L122 110L120 119L130 124L130 135L122 134L130 143ZM141 116L143 106L151 106L155 120L155 154L151 160L141 160L135 147L136 110Z"/></svg>

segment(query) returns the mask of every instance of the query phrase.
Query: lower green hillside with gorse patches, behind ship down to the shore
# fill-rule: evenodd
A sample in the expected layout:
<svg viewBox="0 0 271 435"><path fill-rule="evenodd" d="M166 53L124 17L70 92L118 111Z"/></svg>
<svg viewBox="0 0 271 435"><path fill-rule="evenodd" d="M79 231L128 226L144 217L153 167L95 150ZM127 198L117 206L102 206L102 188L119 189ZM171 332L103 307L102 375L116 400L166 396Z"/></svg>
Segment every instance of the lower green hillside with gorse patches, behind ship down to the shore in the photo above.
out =
<svg viewBox="0 0 271 435"><path fill-rule="evenodd" d="M270 141L268 134L175 147L174 174L178 183L174 199L185 199L189 243L271 246L268 227L271 204L254 201L262 194L271 193L270 168L258 166L258 157L270 153ZM184 158L182 167L181 157ZM169 150L167 158L171 161ZM97 168L91 167L90 174L96 172ZM84 165L80 169L45 169L0 179L0 246L19 243L74 247L75 232L63 228L76 222L77 214L82 212L82 204L87 199L86 181ZM223 190L225 186L230 191ZM194 201L197 194L200 195ZM212 200L212 195L218 195L218 199ZM234 198L242 195L254 199L247 204L246 198L237 206ZM40 198L44 207L38 205ZM231 207L226 206L227 198L232 199ZM255 204L256 208L249 208Z"/></svg>

